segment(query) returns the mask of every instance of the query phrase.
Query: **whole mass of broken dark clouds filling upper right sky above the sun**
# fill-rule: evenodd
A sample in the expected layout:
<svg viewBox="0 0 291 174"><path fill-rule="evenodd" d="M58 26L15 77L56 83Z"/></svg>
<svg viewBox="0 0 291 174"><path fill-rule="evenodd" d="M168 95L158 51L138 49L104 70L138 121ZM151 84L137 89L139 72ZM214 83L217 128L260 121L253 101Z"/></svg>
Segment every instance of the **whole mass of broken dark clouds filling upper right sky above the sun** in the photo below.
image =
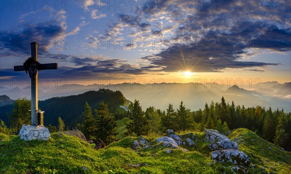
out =
<svg viewBox="0 0 291 174"><path fill-rule="evenodd" d="M247 8L249 1L210 0L205 2L208 5L203 2L199 6L196 2L163 1L162 12L145 10L140 13L167 16L178 24L175 35L165 40L169 47L144 59L167 72L221 72L229 68L279 65L243 60L256 56L256 49L291 50L290 2L259 1L259 10ZM215 5L218 2L225 4L223 9ZM231 3L229 8L227 3ZM234 4L239 3L243 8L234 9ZM151 34L160 33L161 30L152 30Z"/></svg>

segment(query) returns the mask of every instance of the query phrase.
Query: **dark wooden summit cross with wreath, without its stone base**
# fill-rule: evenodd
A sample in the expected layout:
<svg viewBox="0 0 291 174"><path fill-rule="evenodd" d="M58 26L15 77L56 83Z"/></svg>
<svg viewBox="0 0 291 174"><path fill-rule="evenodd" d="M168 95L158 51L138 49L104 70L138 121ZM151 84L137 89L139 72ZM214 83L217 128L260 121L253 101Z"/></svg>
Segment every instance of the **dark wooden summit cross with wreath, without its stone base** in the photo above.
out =
<svg viewBox="0 0 291 174"><path fill-rule="evenodd" d="M57 63L46 63L41 64L37 61L37 43L31 43L32 57L28 58L23 65L14 66L14 71L25 71L29 73L31 78L31 89L32 89L32 126L38 126L38 119L36 112L38 112L38 70L57 70Z"/></svg>

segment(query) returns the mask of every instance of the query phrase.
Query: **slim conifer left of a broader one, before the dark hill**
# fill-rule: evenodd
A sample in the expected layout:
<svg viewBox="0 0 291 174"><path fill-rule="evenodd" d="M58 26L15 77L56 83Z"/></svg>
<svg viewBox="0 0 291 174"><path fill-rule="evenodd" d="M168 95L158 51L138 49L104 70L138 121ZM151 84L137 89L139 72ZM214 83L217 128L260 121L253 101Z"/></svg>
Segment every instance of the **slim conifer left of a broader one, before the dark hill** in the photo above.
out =
<svg viewBox="0 0 291 174"><path fill-rule="evenodd" d="M83 112L84 122L83 122L83 133L86 139L92 139L94 133L97 131L96 120L93 117L92 109L88 102L85 103L85 111Z"/></svg>

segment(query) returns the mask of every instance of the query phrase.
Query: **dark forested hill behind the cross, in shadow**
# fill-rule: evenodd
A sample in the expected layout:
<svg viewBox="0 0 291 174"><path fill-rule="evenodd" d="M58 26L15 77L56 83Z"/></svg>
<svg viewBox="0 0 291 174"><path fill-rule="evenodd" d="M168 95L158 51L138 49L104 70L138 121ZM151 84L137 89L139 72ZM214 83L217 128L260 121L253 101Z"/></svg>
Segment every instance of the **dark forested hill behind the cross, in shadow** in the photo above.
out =
<svg viewBox="0 0 291 174"><path fill-rule="evenodd" d="M61 117L65 121L65 125L72 128L76 123L81 122L85 102L88 102L93 109L97 109L102 101L108 105L111 113L115 113L119 106L126 102L126 99L120 91L99 89L98 91L88 91L79 95L54 97L45 101L39 101L38 107L45 111L45 125L51 124L56 126L58 124L58 117ZM12 109L12 104L0 107L0 119L6 124ZM9 124L7 125L9 126Z"/></svg>

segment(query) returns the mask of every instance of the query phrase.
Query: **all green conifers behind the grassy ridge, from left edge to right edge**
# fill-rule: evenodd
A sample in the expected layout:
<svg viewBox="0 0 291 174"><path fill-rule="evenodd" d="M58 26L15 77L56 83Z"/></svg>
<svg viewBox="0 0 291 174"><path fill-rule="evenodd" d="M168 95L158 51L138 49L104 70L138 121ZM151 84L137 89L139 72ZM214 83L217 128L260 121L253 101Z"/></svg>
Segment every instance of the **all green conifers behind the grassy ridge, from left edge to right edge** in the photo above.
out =
<svg viewBox="0 0 291 174"><path fill-rule="evenodd" d="M27 99L17 100L10 116L12 130L16 134L22 124L30 124L30 101ZM105 144L115 140L116 113L109 111L107 104L100 102L98 109L94 112L90 105L85 102L84 112L81 121L76 124L76 128L81 130L87 139L101 139ZM261 106L245 108L244 105L226 103L224 97L221 102L206 103L204 109L191 111L186 108L181 101L178 109L169 103L166 111L156 109L151 106L142 110L139 101L135 100L129 104L129 111L117 114L117 118L129 117L126 123L126 135L146 135L150 132L164 132L167 129L174 131L215 129L223 134L228 134L233 129L247 128L265 140L274 143L287 150L291 150L291 113L284 110L272 111L271 108L265 109ZM49 125L50 131L64 131L65 122L62 118L58 119L58 129ZM4 127L4 122L1 122ZM7 128L6 128L7 130Z"/></svg>

